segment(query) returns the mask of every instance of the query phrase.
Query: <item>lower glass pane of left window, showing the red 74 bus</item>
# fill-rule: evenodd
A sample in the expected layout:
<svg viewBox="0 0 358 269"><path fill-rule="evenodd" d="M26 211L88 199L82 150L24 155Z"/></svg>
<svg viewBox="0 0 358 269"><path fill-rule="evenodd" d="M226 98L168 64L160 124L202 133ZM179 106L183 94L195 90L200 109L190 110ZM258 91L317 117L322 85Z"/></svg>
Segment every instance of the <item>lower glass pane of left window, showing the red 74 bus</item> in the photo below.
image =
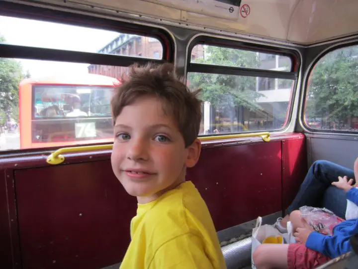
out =
<svg viewBox="0 0 358 269"><path fill-rule="evenodd" d="M113 141L110 100L126 67L0 58L0 149Z"/></svg>

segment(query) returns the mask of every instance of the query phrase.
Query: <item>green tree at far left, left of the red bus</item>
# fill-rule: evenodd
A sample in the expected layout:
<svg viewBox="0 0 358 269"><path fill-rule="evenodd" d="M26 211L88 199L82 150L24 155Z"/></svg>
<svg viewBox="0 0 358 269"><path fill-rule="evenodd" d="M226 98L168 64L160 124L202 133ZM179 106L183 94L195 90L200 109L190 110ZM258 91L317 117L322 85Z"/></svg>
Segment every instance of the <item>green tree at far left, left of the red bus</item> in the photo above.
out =
<svg viewBox="0 0 358 269"><path fill-rule="evenodd" d="M0 36L0 43L5 39ZM22 67L13 59L0 58L0 111L9 118L18 107L18 84L23 79Z"/></svg>

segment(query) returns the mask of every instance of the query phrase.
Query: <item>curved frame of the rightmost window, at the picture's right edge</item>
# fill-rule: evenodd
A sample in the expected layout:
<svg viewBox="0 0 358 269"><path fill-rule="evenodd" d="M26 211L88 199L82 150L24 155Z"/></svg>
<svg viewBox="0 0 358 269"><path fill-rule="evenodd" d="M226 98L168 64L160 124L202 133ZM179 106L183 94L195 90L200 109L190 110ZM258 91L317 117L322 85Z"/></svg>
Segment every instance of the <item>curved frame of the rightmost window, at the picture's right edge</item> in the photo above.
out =
<svg viewBox="0 0 358 269"><path fill-rule="evenodd" d="M316 64L323 57L325 57L328 53L333 52L335 50L352 47L352 46L358 46L358 41L354 41L354 42L346 41L346 42L342 42L339 44L331 45L328 48L322 50L320 53L318 53L316 55L316 57L313 59L313 61L311 61L311 63L309 64L309 66L304 74L303 88L302 88L302 93L301 93L301 97L300 97L299 115L298 115L299 116L298 117L299 125L304 132L306 132L308 134L333 134L333 135L344 134L344 135L348 135L348 136L356 136L358 134L358 132L352 132L352 131L313 129L313 128L310 128L309 126L307 126L304 121L304 116L305 116L305 111L306 111L306 100L307 100L306 96L307 96L307 92L308 92L308 81L309 81L309 78L310 78L312 72L314 71Z"/></svg>

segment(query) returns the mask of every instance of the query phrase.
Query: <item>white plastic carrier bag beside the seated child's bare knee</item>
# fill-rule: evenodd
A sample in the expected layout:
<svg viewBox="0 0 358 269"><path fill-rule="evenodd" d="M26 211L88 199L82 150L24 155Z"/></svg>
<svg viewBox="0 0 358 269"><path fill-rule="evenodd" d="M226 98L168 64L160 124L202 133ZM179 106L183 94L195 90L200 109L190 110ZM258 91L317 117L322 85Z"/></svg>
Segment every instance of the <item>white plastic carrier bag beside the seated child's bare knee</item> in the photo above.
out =
<svg viewBox="0 0 358 269"><path fill-rule="evenodd" d="M252 246L251 246L251 267L252 267L252 269L256 269L256 266L255 266L254 260L253 260L253 254L254 254L255 250L269 236L282 236L282 234L277 229L273 228L272 225L267 225L267 224L262 225L262 218L258 217L258 219L256 221L256 226L253 229L253 234L252 234Z"/></svg>

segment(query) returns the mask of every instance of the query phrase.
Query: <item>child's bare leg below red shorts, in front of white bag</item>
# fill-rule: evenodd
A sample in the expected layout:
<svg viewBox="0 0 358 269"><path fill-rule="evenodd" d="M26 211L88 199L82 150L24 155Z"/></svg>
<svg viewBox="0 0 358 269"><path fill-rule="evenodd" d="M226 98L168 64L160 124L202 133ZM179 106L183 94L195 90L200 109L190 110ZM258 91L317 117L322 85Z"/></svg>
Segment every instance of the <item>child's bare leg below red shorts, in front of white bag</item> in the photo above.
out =
<svg viewBox="0 0 358 269"><path fill-rule="evenodd" d="M262 244L253 254L257 269L287 269L288 244Z"/></svg>

